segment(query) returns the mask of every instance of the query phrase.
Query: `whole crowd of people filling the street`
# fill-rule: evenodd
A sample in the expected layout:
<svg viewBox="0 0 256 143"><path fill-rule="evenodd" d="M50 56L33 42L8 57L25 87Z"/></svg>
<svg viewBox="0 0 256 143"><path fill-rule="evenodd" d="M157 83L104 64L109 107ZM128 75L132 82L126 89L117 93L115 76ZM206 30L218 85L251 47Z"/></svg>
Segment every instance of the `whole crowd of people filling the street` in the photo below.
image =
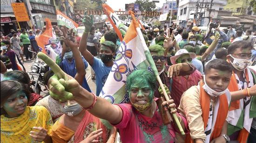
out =
<svg viewBox="0 0 256 143"><path fill-rule="evenodd" d="M54 60L38 53L35 36L45 28L12 30L7 36L1 32L1 143L115 143L117 134L122 143L254 142L256 37L251 30L220 30L211 24L205 33L197 26L141 29L141 42L147 44L171 99L162 99L153 73L137 69L126 81L129 103L111 104L99 95L120 39L110 26L102 31L94 27L88 15L83 25L81 37L73 29L54 26L57 38L50 46L54 50L60 39L62 47ZM49 92L44 97L30 87L23 66L33 60L30 47L51 68L44 74ZM88 66L96 93L85 78Z"/></svg>

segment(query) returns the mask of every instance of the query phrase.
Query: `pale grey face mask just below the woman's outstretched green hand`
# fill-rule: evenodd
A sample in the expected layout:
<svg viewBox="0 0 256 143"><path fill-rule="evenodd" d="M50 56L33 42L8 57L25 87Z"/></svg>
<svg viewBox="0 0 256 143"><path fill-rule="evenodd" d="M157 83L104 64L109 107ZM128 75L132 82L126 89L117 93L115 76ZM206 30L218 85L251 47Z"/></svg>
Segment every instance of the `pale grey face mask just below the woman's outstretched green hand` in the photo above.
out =
<svg viewBox="0 0 256 143"><path fill-rule="evenodd" d="M73 105L69 105L69 106L60 106L61 108L61 112L63 114L66 114L67 116L70 116L70 117L74 117L76 115L78 115L83 109L82 107L78 104L78 103L75 103Z"/></svg>

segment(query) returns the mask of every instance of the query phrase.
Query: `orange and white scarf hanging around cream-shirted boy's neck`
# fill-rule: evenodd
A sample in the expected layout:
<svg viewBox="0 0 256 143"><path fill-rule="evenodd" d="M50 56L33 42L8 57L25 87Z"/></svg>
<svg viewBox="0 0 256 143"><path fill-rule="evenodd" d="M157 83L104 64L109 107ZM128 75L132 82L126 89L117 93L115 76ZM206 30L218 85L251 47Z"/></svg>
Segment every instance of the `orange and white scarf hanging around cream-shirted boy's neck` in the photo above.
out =
<svg viewBox="0 0 256 143"><path fill-rule="evenodd" d="M202 88L203 85L204 85L203 81L201 80L199 83L199 86L200 86L200 105L202 108L202 120L203 120L204 130L209 124L212 125L213 130L211 130L211 133L209 134L209 136L206 136L206 140L212 141L216 137L219 137L221 134L222 126L228 115L229 102L231 100L231 95L230 93L226 93L216 98L216 104L213 110L212 123L209 123L208 121L209 121L209 113L210 113L210 96ZM194 143L194 141L191 139L189 134L186 136L185 143Z"/></svg>

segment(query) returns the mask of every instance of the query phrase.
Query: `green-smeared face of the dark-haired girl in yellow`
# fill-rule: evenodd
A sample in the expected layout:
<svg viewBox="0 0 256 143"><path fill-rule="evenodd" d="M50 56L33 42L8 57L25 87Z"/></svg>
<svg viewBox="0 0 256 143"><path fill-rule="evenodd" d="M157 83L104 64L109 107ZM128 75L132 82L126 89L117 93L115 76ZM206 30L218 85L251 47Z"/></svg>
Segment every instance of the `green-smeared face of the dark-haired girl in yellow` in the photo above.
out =
<svg viewBox="0 0 256 143"><path fill-rule="evenodd" d="M7 112L8 118L19 117L23 112L25 112L27 106L27 96L24 92L17 92L3 103L3 108Z"/></svg>

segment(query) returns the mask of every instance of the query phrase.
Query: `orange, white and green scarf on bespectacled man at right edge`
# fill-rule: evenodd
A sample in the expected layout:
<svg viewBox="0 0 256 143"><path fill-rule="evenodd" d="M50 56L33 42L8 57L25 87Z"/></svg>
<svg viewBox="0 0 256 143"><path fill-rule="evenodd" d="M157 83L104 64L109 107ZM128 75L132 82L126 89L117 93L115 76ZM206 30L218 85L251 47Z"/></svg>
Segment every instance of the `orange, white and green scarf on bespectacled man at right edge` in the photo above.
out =
<svg viewBox="0 0 256 143"><path fill-rule="evenodd" d="M238 76L233 72L229 83L229 91L243 90L252 87L256 83L255 74L246 68L243 71L243 79L240 81ZM249 136L252 120L256 117L256 98L245 97L240 100L231 102L228 115L228 135L232 135L236 131L239 132L237 140L239 143L246 143Z"/></svg>

